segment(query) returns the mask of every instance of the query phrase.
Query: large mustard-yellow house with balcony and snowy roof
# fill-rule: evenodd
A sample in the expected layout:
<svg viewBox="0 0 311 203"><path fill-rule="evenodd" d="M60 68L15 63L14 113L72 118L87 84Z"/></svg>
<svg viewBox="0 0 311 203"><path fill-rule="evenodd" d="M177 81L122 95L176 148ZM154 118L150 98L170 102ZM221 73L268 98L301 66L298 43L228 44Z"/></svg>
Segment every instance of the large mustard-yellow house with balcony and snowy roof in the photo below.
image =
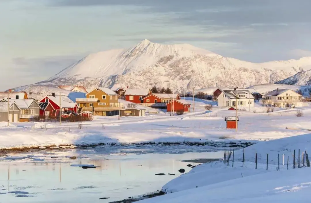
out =
<svg viewBox="0 0 311 203"><path fill-rule="evenodd" d="M86 94L86 98L77 98L76 103L81 111L91 111L93 115L118 115L123 105L119 104L119 95L107 87L96 87Z"/></svg>

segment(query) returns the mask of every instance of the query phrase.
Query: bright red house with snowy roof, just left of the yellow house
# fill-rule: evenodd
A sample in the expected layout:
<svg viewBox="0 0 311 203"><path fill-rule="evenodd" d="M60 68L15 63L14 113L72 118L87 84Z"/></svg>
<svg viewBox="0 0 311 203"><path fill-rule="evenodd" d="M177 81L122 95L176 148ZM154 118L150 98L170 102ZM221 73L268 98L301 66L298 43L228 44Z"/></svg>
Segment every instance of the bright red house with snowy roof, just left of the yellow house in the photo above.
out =
<svg viewBox="0 0 311 203"><path fill-rule="evenodd" d="M60 97L60 98L59 98ZM69 99L67 96L59 96L55 95L55 93L52 93L52 95L45 96L43 99L40 100L40 102L49 102L55 109L53 111L53 114L55 113L55 116L59 115L59 106L61 106L62 111L73 111L77 113L78 105L76 102L73 102L71 99Z"/></svg>

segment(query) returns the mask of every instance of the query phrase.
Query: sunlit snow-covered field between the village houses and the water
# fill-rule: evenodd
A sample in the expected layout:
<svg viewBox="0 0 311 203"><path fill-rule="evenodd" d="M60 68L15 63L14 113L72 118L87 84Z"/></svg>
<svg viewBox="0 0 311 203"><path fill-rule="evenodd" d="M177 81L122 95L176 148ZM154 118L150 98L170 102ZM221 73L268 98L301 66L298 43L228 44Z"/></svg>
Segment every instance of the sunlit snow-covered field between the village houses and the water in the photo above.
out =
<svg viewBox="0 0 311 203"><path fill-rule="evenodd" d="M191 101L192 98L186 98ZM226 140L270 140L305 134L310 128L309 106L293 109L245 108L238 112L239 129L226 129L225 116L235 116L235 111L214 106L206 111L209 100L196 99L195 112L181 116L169 113L149 113L145 117L94 117L81 123L7 123L0 124L0 147L31 147L49 145L85 145L94 143L141 142L207 142ZM306 103L307 104L307 103ZM302 110L303 117L296 117ZM288 129L286 129L288 128Z"/></svg>

